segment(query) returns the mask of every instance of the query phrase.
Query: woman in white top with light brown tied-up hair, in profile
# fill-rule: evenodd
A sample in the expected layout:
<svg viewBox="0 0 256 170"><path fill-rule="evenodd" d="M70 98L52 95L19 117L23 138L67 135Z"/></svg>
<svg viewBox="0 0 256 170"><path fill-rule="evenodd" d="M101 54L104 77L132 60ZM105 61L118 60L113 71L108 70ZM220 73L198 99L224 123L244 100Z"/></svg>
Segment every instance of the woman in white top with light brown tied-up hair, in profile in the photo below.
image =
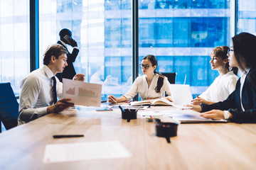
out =
<svg viewBox="0 0 256 170"><path fill-rule="evenodd" d="M200 105L201 103L213 104L219 101L224 101L235 90L235 84L238 81L236 74L238 68L229 67L228 63L228 50L227 46L215 47L210 53L210 65L211 69L215 69L219 72L219 76L213 81L208 89L200 96L196 96L193 99L193 105Z"/></svg>

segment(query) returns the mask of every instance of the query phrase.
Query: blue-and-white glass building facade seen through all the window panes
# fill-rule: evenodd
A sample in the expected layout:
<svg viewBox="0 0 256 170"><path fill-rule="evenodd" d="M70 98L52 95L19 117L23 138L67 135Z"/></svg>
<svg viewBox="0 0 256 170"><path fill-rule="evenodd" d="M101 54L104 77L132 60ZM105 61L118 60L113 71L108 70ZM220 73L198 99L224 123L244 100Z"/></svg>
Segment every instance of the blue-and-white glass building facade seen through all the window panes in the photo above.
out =
<svg viewBox="0 0 256 170"><path fill-rule="evenodd" d="M146 55L156 55L158 72L176 72L176 84L190 84L193 94L201 94L218 76L210 69L211 50L230 45L232 2L139 0L139 63ZM0 0L0 81L10 81L16 94L30 71L28 3ZM238 32L255 33L255 1L238 0L238 6ZM70 29L78 42L76 72L85 74L87 82L102 84L102 99L129 90L131 0L39 1L41 66L44 50L59 40L62 28Z"/></svg>

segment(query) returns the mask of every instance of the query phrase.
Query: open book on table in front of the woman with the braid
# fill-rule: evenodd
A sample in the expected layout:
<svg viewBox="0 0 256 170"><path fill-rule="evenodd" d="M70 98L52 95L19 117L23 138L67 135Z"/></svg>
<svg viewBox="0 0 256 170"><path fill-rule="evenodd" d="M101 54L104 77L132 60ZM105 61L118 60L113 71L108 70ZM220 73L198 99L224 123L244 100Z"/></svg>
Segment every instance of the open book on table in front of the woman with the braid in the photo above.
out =
<svg viewBox="0 0 256 170"><path fill-rule="evenodd" d="M173 106L174 103L168 101L166 98L157 98L145 101L132 101L131 106L141 106L141 105L166 105L166 106Z"/></svg>

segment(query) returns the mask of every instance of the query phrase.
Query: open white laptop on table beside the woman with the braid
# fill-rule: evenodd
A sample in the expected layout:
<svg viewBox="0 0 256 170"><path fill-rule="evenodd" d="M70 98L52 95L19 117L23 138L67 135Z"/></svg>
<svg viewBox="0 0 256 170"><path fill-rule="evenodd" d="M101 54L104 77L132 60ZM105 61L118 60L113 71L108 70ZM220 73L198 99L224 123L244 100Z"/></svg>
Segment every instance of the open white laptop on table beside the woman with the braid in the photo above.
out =
<svg viewBox="0 0 256 170"><path fill-rule="evenodd" d="M178 106L189 104L193 100L188 84L170 84L170 91L174 104Z"/></svg>

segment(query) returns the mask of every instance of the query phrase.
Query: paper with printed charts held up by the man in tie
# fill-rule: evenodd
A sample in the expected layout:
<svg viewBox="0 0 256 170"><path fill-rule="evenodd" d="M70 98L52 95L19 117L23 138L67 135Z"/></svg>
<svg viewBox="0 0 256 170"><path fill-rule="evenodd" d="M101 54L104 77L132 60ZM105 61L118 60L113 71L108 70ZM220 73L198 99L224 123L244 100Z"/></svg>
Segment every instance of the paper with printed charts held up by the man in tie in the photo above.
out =
<svg viewBox="0 0 256 170"><path fill-rule="evenodd" d="M101 84L63 79L63 98L72 98L75 105L100 107L101 94Z"/></svg>

